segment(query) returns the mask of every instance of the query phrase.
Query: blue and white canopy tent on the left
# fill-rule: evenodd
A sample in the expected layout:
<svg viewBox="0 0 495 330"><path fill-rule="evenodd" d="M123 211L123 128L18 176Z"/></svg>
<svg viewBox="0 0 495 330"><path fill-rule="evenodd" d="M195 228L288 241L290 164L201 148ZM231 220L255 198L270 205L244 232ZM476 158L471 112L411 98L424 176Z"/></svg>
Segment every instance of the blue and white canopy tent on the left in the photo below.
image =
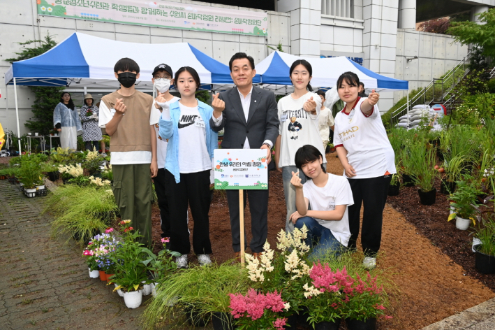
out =
<svg viewBox="0 0 495 330"><path fill-rule="evenodd" d="M17 134L20 134L17 85L77 86L117 89L114 64L122 57L140 65L138 89L152 89L155 66L166 63L174 70L191 66L200 76L203 89L233 84L228 66L194 48L189 43L127 43L75 32L42 55L14 62L5 75L5 84L14 85ZM20 146L19 146L20 150Z"/></svg>

